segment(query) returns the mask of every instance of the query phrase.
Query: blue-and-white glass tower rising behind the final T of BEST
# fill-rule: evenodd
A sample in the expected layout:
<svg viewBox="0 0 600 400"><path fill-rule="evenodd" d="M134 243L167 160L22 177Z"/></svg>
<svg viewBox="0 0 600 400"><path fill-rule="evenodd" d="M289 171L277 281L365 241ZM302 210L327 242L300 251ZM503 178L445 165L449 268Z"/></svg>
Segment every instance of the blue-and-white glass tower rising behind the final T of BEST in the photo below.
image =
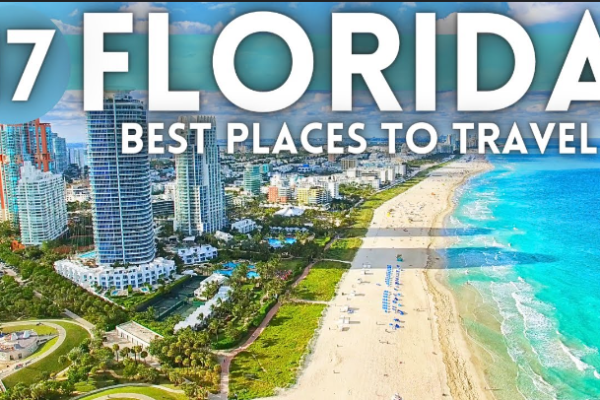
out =
<svg viewBox="0 0 600 400"><path fill-rule="evenodd" d="M221 181L217 123L212 116L179 117L186 125L188 146L175 156L175 230L185 235L214 233L227 223L225 192ZM197 131L190 123L210 123L204 131L203 154L198 154Z"/></svg>

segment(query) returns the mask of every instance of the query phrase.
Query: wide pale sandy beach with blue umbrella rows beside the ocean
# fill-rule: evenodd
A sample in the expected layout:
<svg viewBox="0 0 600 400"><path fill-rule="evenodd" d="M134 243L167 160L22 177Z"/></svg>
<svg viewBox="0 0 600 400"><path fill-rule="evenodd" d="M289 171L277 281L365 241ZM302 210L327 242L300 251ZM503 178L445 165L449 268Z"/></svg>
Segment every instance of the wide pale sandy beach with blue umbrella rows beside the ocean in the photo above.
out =
<svg viewBox="0 0 600 400"><path fill-rule="evenodd" d="M454 299L439 281L443 261L435 249L452 238L441 235L454 189L490 168L470 156L438 169L375 211L363 246L328 307L304 362L298 383L276 398L492 399L471 356ZM402 254L403 262L396 262ZM363 268L370 264L371 268ZM401 265L400 309L385 313L386 266ZM392 273L394 275L395 272ZM393 296L392 296L393 297ZM353 311L347 314L342 308ZM390 300L390 310L391 310ZM341 317L349 323L340 331ZM401 328L390 323L399 319Z"/></svg>

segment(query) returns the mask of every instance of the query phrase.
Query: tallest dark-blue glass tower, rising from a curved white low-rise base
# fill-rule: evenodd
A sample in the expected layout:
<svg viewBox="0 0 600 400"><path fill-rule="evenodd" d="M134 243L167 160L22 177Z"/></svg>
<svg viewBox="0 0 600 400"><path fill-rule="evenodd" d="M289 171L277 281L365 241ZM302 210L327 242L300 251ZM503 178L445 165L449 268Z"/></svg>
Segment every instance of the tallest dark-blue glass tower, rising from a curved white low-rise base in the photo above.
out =
<svg viewBox="0 0 600 400"><path fill-rule="evenodd" d="M124 122L143 127L143 150L123 154ZM87 112L88 163L97 262L148 263L154 259L154 227L146 110L129 93L104 100L103 111Z"/></svg>

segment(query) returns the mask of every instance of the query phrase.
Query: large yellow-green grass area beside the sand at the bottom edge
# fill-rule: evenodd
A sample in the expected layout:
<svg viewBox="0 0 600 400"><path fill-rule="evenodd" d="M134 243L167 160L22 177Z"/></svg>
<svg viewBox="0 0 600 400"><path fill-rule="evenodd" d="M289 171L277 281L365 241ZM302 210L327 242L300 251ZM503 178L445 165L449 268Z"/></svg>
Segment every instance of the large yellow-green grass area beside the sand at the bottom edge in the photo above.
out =
<svg viewBox="0 0 600 400"><path fill-rule="evenodd" d="M292 385L324 308L322 304L284 304L258 340L233 359L230 394L240 400L254 399Z"/></svg>

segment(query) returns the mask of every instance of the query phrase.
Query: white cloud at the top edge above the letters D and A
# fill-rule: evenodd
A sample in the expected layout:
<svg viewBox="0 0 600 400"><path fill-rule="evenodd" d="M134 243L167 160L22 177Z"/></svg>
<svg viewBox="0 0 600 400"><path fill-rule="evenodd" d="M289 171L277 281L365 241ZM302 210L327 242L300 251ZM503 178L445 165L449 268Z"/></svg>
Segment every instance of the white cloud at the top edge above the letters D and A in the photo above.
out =
<svg viewBox="0 0 600 400"><path fill-rule="evenodd" d="M508 14L524 25L545 24L548 22L565 22L573 18L579 19L592 3L508 3Z"/></svg>

